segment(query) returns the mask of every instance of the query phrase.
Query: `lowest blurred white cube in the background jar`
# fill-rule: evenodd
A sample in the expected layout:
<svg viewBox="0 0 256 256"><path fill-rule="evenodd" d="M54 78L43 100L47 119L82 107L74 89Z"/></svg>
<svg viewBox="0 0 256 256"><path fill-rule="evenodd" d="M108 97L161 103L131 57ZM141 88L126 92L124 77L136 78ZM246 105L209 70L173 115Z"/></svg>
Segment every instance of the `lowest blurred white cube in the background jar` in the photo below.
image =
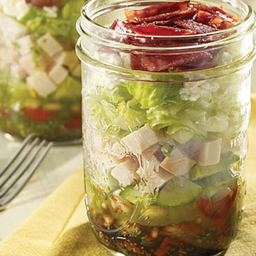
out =
<svg viewBox="0 0 256 256"><path fill-rule="evenodd" d="M37 71L33 75L27 77L27 82L38 95L44 98L57 89L48 75L42 71Z"/></svg>

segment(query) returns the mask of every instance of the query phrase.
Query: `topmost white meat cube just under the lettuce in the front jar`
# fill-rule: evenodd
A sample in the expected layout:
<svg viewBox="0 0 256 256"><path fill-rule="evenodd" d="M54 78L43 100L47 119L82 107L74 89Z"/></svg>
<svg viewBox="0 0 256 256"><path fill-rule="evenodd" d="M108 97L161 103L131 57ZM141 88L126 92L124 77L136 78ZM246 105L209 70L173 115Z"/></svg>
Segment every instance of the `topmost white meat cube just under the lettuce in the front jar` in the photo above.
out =
<svg viewBox="0 0 256 256"><path fill-rule="evenodd" d="M138 131L122 138L122 141L134 154L141 154L146 148L156 144L162 138L162 133L154 131L150 125L145 124Z"/></svg>

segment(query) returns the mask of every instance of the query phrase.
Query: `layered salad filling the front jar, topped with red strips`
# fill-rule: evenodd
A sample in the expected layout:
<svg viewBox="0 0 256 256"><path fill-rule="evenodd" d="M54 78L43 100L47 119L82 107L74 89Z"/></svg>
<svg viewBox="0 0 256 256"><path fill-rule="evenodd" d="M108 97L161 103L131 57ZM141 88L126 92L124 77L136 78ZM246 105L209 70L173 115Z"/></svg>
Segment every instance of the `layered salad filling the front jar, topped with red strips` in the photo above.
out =
<svg viewBox="0 0 256 256"><path fill-rule="evenodd" d="M140 47L182 46L183 35L202 34L191 39L200 45L236 33L228 28L240 22L221 6L189 1L124 12L109 38ZM239 46L173 56L99 47L98 59L130 69L131 80L83 65L86 202L107 248L125 255L214 255L236 236L250 67L221 76L214 69L235 61Z"/></svg>

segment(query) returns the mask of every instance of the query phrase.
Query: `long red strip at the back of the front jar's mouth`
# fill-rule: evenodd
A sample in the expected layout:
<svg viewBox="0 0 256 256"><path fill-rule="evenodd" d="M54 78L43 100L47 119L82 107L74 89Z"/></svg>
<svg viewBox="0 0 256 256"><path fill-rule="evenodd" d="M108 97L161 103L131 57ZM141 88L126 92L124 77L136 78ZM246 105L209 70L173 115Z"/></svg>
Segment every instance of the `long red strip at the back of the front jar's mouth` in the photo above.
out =
<svg viewBox="0 0 256 256"><path fill-rule="evenodd" d="M178 10L181 11L189 7L189 2L190 1L166 3L162 5L147 7L142 10L124 9L124 13L125 13L126 19L132 21L135 19L155 16L165 12L173 12Z"/></svg>

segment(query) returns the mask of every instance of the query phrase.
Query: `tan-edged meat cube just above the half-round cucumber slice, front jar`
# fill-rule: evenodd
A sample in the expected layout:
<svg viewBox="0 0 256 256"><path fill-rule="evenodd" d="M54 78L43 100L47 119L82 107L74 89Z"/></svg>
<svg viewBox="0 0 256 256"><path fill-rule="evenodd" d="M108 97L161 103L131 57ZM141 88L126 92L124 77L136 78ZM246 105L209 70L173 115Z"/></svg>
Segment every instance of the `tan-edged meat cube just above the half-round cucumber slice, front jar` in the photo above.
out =
<svg viewBox="0 0 256 256"><path fill-rule="evenodd" d="M196 164L195 160L189 159L178 147L174 148L170 156L166 157L160 166L175 176L184 175Z"/></svg>

